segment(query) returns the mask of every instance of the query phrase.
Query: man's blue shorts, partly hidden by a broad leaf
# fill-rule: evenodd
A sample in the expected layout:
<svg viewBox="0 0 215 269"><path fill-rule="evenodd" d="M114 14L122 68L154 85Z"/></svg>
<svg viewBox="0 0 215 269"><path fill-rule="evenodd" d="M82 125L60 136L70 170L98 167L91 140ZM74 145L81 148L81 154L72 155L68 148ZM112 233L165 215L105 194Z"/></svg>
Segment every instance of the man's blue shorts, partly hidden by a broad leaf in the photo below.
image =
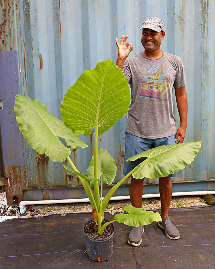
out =
<svg viewBox="0 0 215 269"><path fill-rule="evenodd" d="M126 145L125 145L125 159L127 160L131 156L134 156L142 151L149 150L150 148L155 148L163 145L175 144L175 134L172 136L148 139L126 132ZM132 169L134 169L143 160L137 159L134 162L128 161L124 162L123 175L127 175ZM176 173L169 175L174 177Z"/></svg>

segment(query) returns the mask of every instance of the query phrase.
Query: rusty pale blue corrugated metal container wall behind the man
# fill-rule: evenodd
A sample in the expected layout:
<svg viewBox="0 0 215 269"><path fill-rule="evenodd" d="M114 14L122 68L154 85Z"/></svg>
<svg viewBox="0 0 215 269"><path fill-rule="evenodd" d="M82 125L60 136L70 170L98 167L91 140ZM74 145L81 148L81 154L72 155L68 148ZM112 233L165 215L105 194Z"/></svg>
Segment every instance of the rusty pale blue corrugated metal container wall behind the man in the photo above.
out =
<svg viewBox="0 0 215 269"><path fill-rule="evenodd" d="M162 18L166 27L162 50L180 56L185 66L185 141L202 140L195 161L178 173L175 182L211 180L215 178L214 10L213 0L1 0L0 49L18 51L21 94L38 98L60 118L60 101L78 76L99 61L116 61L115 37L128 34L134 47L130 56L134 56L143 50L139 31L142 22L152 16ZM174 114L178 126L176 104ZM125 125L126 115L99 140L99 147L106 148L117 162L115 182L123 171ZM71 157L86 173L94 136L80 137L89 147L73 150ZM38 155L26 142L25 159L26 166L20 168L26 169L24 190L80 186L76 177L66 176L62 163ZM7 176L13 177L7 171Z"/></svg>

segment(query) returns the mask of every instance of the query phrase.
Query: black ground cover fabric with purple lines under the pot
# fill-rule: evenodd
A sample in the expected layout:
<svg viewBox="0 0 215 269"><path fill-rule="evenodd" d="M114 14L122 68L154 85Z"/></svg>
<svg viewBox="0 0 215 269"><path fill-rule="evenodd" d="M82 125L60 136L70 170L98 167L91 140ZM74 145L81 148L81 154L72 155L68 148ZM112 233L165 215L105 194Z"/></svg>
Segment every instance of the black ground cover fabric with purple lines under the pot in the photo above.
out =
<svg viewBox="0 0 215 269"><path fill-rule="evenodd" d="M153 222L145 226L138 247L127 243L131 228L114 222L113 256L101 263L89 260L84 253L83 225L92 219L91 213L0 222L0 269L214 269L215 206L174 208L170 209L169 217L178 225L180 239L168 239ZM107 213L105 218L112 220L113 216Z"/></svg>

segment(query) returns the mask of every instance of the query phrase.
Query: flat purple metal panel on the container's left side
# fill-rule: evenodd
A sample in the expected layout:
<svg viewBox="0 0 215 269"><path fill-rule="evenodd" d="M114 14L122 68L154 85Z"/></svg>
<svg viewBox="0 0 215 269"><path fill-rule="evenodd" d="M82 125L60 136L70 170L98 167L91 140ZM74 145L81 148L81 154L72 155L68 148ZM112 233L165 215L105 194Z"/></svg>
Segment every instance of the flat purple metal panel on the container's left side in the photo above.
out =
<svg viewBox="0 0 215 269"><path fill-rule="evenodd" d="M3 163L8 166L24 166L24 139L16 123L13 110L19 89L19 70L17 51L0 51L0 126L2 136Z"/></svg>

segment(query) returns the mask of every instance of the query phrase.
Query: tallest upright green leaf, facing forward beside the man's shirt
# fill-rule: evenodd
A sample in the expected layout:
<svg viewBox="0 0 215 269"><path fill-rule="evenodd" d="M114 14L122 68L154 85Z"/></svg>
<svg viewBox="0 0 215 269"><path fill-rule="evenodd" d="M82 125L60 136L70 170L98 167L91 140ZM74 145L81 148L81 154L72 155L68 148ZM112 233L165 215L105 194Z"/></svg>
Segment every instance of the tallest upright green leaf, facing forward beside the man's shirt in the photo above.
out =
<svg viewBox="0 0 215 269"><path fill-rule="evenodd" d="M60 111L73 132L87 136L98 127L100 135L127 113L130 100L122 70L109 60L80 75L64 95Z"/></svg>

